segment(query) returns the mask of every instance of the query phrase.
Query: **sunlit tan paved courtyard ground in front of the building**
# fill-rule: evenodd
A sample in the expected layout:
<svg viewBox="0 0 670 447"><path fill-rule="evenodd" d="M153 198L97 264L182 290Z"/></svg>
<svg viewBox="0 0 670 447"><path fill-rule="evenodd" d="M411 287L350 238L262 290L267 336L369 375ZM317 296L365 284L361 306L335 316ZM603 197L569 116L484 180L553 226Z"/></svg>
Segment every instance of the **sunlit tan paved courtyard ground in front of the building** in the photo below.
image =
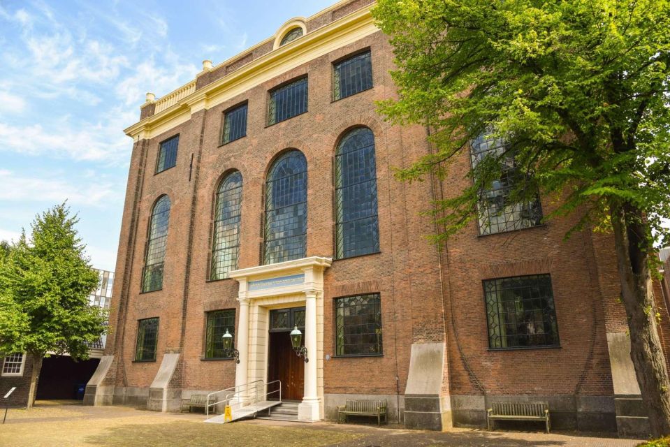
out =
<svg viewBox="0 0 670 447"><path fill-rule="evenodd" d="M376 425L283 423L247 420L205 424L202 414L155 413L74 402L38 402L29 411L10 409L0 425L0 446L152 447L633 447L640 441L558 432L486 432L456 429L420 432Z"/></svg>

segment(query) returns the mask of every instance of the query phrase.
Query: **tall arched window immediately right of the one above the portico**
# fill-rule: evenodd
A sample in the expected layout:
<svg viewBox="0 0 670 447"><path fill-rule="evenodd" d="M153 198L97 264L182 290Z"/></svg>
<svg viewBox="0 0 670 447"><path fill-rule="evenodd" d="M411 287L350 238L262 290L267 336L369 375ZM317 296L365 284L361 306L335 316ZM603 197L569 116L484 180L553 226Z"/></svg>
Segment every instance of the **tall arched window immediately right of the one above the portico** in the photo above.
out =
<svg viewBox="0 0 670 447"><path fill-rule="evenodd" d="M337 258L379 251L374 135L359 127L344 135L335 154Z"/></svg>

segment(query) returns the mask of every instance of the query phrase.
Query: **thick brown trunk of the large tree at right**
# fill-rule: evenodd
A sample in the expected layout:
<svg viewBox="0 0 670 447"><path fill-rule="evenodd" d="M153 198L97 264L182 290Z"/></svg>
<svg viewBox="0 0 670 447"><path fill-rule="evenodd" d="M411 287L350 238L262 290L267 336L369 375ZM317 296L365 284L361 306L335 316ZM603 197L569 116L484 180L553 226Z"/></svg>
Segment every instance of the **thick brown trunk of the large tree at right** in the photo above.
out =
<svg viewBox="0 0 670 447"><path fill-rule="evenodd" d="M670 434L670 380L657 331L656 306L643 238L643 215L633 207L611 207L621 298L628 316L630 357L649 416L651 434Z"/></svg>

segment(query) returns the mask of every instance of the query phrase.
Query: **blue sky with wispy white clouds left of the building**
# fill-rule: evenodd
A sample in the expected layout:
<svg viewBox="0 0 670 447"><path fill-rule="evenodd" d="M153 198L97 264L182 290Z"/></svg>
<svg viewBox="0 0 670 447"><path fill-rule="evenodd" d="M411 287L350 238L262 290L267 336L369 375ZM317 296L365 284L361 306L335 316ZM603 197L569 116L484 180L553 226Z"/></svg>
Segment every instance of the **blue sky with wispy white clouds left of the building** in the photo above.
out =
<svg viewBox="0 0 670 447"><path fill-rule="evenodd" d="M156 97L335 0L0 0L0 240L68 200L115 269L132 141ZM139 5L139 6L138 6Z"/></svg>

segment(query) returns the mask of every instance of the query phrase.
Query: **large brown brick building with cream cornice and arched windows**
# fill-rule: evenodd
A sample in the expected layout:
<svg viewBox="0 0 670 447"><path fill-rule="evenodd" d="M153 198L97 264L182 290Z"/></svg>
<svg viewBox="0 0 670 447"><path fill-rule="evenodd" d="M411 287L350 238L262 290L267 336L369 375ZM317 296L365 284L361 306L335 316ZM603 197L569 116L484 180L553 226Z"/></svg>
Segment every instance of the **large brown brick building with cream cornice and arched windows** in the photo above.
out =
<svg viewBox="0 0 670 447"><path fill-rule="evenodd" d="M394 179L431 147L375 111L396 93L372 3L297 17L147 94L126 129L113 334L85 402L171 411L279 379L301 420L374 397L439 430L484 425L495 400L544 400L553 427L632 432L644 418L612 241L564 241L575 218L541 224L552 201L509 203L501 181L479 223L432 244L421 212L504 143L483 135L444 181Z"/></svg>

